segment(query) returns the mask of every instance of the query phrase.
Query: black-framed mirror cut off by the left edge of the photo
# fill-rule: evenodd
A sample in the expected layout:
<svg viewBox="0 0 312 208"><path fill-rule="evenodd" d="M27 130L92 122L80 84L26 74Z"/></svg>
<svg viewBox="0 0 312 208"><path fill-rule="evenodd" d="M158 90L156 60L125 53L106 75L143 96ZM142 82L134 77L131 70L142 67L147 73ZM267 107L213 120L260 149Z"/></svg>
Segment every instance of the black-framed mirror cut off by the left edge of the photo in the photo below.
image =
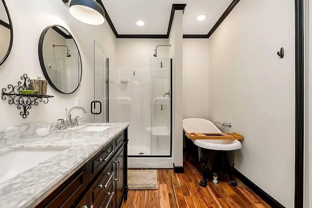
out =
<svg viewBox="0 0 312 208"><path fill-rule="evenodd" d="M0 1L0 65L9 56L13 43L12 22L4 0Z"/></svg>

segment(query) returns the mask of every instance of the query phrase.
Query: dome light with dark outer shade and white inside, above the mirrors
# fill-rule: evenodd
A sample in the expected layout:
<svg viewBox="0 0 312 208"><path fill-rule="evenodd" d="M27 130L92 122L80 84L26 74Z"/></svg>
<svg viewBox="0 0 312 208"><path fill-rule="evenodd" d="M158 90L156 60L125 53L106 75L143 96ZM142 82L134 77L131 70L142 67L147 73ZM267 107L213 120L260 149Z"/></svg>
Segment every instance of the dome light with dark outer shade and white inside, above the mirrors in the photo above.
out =
<svg viewBox="0 0 312 208"><path fill-rule="evenodd" d="M71 0L69 13L86 24L100 25L105 21L104 10L95 0Z"/></svg>

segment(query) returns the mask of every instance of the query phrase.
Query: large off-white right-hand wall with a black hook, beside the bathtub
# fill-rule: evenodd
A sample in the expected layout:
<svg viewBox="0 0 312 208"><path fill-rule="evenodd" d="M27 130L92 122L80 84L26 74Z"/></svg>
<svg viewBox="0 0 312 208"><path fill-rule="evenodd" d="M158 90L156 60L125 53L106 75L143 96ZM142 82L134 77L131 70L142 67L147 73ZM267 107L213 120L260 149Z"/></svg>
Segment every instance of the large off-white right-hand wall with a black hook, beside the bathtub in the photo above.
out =
<svg viewBox="0 0 312 208"><path fill-rule="evenodd" d="M244 135L236 169L287 208L294 206L294 40L292 0L240 1L209 39L209 116Z"/></svg>

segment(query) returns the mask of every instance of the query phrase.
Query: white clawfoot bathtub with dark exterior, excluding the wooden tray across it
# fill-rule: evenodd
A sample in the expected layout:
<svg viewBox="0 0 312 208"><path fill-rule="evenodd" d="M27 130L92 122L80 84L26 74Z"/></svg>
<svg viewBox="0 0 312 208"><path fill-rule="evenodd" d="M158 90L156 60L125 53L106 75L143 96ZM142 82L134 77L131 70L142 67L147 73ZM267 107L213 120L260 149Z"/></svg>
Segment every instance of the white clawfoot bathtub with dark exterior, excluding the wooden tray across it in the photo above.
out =
<svg viewBox="0 0 312 208"><path fill-rule="evenodd" d="M221 133L213 122L202 118L183 119L183 131L189 133ZM197 146L198 159L204 168L203 179L199 183L200 186L206 187L207 177L210 173L217 170L225 170L230 176L232 186L237 186L236 181L232 177L232 170L234 168L234 151L242 147L238 140L188 140L192 140L195 146Z"/></svg>

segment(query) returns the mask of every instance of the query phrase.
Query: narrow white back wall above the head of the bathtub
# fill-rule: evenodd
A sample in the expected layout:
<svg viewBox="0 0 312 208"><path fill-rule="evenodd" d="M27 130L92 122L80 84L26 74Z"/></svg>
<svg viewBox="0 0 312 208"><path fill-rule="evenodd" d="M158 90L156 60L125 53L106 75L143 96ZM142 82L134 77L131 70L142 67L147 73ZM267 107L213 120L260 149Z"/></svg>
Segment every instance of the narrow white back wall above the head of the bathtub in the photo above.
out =
<svg viewBox="0 0 312 208"><path fill-rule="evenodd" d="M183 39L183 118L209 119L208 39Z"/></svg>

